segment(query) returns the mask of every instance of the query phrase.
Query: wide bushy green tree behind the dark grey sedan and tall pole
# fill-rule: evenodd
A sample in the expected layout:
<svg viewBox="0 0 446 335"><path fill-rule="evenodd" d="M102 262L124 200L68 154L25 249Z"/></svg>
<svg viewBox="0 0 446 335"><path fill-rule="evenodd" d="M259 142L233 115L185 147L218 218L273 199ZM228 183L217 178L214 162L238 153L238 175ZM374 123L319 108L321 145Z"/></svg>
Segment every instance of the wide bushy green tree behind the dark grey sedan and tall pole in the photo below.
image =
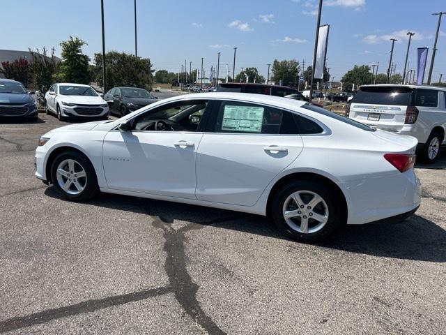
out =
<svg viewBox="0 0 446 335"><path fill-rule="evenodd" d="M105 54L107 89L116 86L132 86L151 89L153 70L151 60L125 52L111 51ZM102 54L95 54L95 66L102 68ZM102 86L102 71L95 80Z"/></svg>

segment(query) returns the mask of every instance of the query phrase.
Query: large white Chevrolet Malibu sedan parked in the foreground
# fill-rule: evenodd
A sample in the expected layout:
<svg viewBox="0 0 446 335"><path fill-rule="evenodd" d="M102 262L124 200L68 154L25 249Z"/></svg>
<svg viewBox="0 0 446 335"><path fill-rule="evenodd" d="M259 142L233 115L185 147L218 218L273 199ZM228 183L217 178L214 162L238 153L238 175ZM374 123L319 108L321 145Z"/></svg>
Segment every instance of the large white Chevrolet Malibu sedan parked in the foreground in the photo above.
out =
<svg viewBox="0 0 446 335"><path fill-rule="evenodd" d="M46 133L36 177L68 200L102 191L270 215L316 241L413 214L416 146L304 101L194 94Z"/></svg>

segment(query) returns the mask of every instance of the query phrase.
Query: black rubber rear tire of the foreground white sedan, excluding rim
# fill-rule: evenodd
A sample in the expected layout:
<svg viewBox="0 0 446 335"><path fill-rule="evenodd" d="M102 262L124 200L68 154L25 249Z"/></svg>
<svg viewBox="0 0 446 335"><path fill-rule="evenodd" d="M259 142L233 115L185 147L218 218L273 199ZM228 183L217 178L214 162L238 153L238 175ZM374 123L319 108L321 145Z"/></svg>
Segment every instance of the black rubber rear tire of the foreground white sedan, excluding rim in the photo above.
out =
<svg viewBox="0 0 446 335"><path fill-rule="evenodd" d="M311 212L312 210L307 209L307 204L309 204L309 201L312 200L312 198L309 198L308 202L304 201L305 204L305 208L303 210L305 210L305 212L302 212L302 216L300 218L293 218L293 222L296 223L296 226L300 223L300 220L302 220L302 218L307 218L308 220L308 227L309 230L315 229L316 231L314 232L299 232L298 230L296 230L295 228L291 227L291 225L289 225L289 223L286 223L285 218L284 218L284 204L286 202L286 200L295 192L298 191L309 191L312 193L315 193L316 195L319 195L322 199L323 202L325 202L325 204L323 203L319 203L316 205L316 207L312 210L314 211L319 211L319 213L321 213L320 209L323 208L325 209L325 205L326 205L326 210L328 210L328 212L325 211L325 214L328 214L328 219L325 223L325 225L323 225L321 228L317 229L317 223L316 221L314 221L314 219L311 216L308 215L316 215L316 214L308 214L308 212ZM309 193L305 194L303 193L302 196L308 196L310 197L311 195L309 195ZM315 181L315 180L296 180L293 181L289 184L286 184L285 186L283 186L282 188L279 188L279 190L275 193L274 198L272 200L271 203L271 214L272 214L272 218L275 222L275 224L277 225L277 228L279 228L279 230L281 230L282 232L284 232L285 234L287 234L288 236L292 237L293 239L295 239L296 241L301 241L301 242L316 242L316 241L322 241L323 239L326 239L327 237L330 236L330 234L332 234L335 230L337 230L337 228L339 228L341 226L341 223L343 223L343 221L345 220L345 215L343 215L343 213L341 213L341 203L338 200L339 195L337 194L337 192L335 192L334 190L332 190L332 188L326 186L323 182L321 181ZM303 200L303 199L302 199ZM288 202L288 201L287 201ZM290 200L290 202L288 202L289 204L291 204L291 209L289 210L298 210L299 207L295 207L293 208L293 204L295 204L295 202L293 202L293 200ZM321 207L322 206L322 207ZM305 216L305 214L307 214L307 216ZM298 227L300 228L300 227Z"/></svg>

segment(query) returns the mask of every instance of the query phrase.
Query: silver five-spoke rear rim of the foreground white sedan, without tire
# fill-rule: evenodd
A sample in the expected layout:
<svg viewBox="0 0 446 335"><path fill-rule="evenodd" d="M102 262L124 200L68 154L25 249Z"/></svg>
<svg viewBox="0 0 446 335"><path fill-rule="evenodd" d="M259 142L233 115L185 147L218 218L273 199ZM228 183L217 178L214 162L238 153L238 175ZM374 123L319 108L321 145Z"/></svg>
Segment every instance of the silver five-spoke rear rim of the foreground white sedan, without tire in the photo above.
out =
<svg viewBox="0 0 446 335"><path fill-rule="evenodd" d="M296 232L312 234L328 222L328 206L317 193L297 191L289 195L282 209L287 225Z"/></svg>

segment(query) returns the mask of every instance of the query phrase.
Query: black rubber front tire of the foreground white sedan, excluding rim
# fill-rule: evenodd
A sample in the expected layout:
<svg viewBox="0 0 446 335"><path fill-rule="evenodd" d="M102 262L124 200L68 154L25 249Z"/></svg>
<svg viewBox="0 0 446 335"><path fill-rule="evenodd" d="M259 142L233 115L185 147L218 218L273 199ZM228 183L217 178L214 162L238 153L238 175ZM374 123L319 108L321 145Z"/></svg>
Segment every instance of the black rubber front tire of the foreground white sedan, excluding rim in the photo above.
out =
<svg viewBox="0 0 446 335"><path fill-rule="evenodd" d="M84 169L86 172L86 178L82 180L82 184L84 184L84 189L78 194L70 194L63 190L63 188L59 185L59 180L57 178L56 170L59 167L59 164L61 164L63 161L66 160L72 160L75 161L78 165L77 168L79 168L79 165ZM78 169L79 170L79 169ZM73 172L76 172L73 171ZM75 174L72 174L75 175ZM100 193L99 186L98 186L98 179L96 177L95 170L93 168L93 165L89 161L86 156L83 154L80 154L77 151L67 151L62 154L59 154L59 156L56 156L54 158L54 161L51 165L51 179L52 184L56 191L61 194L62 198L70 201L86 201L90 200L91 198L94 198L96 195ZM75 180L75 179L73 179ZM84 183L85 182L85 183ZM72 190L75 190L75 186L72 185Z"/></svg>

